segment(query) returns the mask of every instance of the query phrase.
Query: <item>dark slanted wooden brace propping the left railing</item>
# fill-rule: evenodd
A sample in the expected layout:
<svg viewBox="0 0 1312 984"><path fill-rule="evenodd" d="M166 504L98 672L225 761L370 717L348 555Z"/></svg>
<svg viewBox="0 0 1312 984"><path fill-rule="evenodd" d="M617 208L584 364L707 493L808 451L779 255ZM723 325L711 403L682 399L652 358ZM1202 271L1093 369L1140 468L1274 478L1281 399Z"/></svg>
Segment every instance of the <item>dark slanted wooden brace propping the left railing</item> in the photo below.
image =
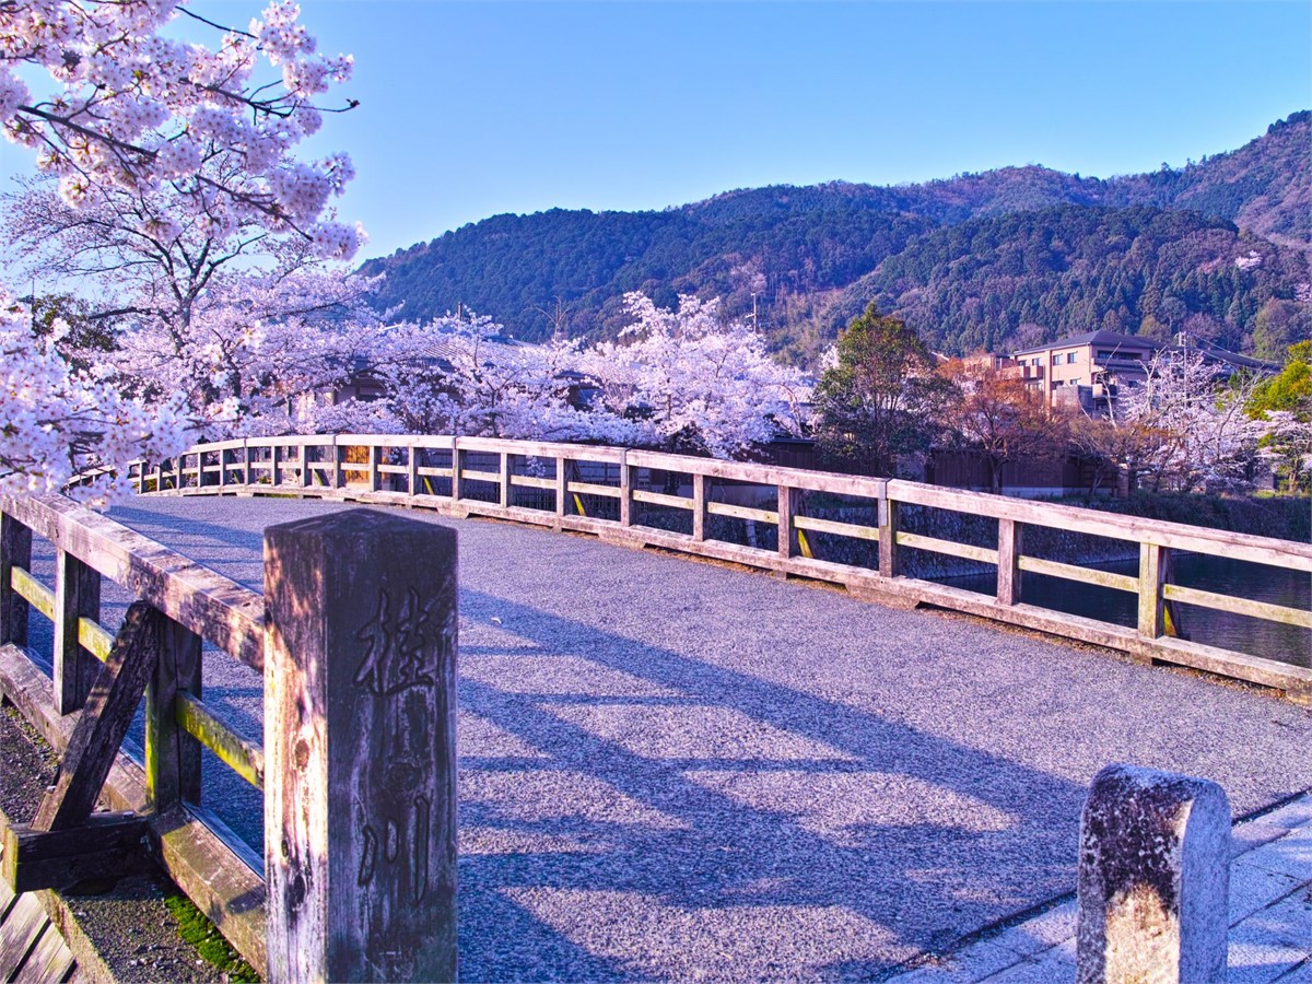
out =
<svg viewBox="0 0 1312 984"><path fill-rule="evenodd" d="M129 606L123 628L77 718L55 787L41 800L38 830L77 827L96 807L109 769L159 659L163 615L146 602Z"/></svg>

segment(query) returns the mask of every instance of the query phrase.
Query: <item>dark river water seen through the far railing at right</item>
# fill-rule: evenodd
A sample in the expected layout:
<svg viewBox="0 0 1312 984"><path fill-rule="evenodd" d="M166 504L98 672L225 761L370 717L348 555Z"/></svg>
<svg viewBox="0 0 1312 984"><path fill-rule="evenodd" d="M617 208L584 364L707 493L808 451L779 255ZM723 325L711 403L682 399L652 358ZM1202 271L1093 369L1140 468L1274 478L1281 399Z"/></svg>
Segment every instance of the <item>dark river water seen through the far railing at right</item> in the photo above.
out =
<svg viewBox="0 0 1312 984"><path fill-rule="evenodd" d="M1139 573L1138 562L1097 564L1097 567L1117 573ZM1174 584L1200 590L1266 601L1303 611L1312 609L1312 575L1266 564L1186 554L1174 559L1172 580ZM983 594L993 594L997 590L994 575L954 577L950 583L956 588ZM1138 618L1136 594L1059 577L1025 572L1021 596L1030 605L1122 626L1134 626ZM1312 666L1312 630L1198 605L1179 605L1178 611L1185 635L1197 643L1250 656L1265 656L1295 666Z"/></svg>

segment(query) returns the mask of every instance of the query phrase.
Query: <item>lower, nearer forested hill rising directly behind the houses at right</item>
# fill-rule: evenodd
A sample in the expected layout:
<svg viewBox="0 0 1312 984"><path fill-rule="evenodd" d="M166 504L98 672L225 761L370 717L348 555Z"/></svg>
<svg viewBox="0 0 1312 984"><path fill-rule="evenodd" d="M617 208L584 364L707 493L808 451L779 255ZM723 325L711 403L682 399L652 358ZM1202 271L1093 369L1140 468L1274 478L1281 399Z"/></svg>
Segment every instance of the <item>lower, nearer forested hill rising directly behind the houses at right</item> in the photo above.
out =
<svg viewBox="0 0 1312 984"><path fill-rule="evenodd" d="M1312 331L1303 253L1223 219L1060 206L971 219L914 239L844 291L837 328L870 302L942 352L989 352L1105 329L1186 331L1279 358Z"/></svg>

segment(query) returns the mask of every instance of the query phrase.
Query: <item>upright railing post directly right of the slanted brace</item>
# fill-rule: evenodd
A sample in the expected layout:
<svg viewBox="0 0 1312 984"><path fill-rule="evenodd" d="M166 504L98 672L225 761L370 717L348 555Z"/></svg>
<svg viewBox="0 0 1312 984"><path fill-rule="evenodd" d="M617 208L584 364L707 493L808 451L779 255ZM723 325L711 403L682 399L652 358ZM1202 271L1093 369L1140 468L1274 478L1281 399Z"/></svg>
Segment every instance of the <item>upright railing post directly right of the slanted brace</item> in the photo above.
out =
<svg viewBox="0 0 1312 984"><path fill-rule="evenodd" d="M146 799L163 812L201 802L201 745L177 723L177 693L201 695L201 636L160 619L159 661L146 686Z"/></svg>

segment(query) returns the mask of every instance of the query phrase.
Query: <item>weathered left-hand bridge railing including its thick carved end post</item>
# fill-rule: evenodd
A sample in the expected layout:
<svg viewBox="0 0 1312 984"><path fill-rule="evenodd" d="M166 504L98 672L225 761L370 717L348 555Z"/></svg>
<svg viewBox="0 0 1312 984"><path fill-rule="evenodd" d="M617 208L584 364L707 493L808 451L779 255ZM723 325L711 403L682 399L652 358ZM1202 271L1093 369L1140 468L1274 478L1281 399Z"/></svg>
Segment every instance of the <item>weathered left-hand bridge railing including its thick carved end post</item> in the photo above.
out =
<svg viewBox="0 0 1312 984"><path fill-rule="evenodd" d="M54 547L52 590L33 534ZM138 598L117 634L105 577ZM33 610L52 680L28 648ZM206 642L262 673L262 744L206 705ZM447 529L367 510L273 527L258 594L62 496L0 496L0 693L62 753L37 816L9 819L3 875L18 892L122 875L147 837L268 980L454 979L454 657ZM119 752L139 703L143 764ZM399 744L398 727L424 733ZM202 804L202 747L265 791L262 858ZM398 747L432 758L400 790Z"/></svg>

